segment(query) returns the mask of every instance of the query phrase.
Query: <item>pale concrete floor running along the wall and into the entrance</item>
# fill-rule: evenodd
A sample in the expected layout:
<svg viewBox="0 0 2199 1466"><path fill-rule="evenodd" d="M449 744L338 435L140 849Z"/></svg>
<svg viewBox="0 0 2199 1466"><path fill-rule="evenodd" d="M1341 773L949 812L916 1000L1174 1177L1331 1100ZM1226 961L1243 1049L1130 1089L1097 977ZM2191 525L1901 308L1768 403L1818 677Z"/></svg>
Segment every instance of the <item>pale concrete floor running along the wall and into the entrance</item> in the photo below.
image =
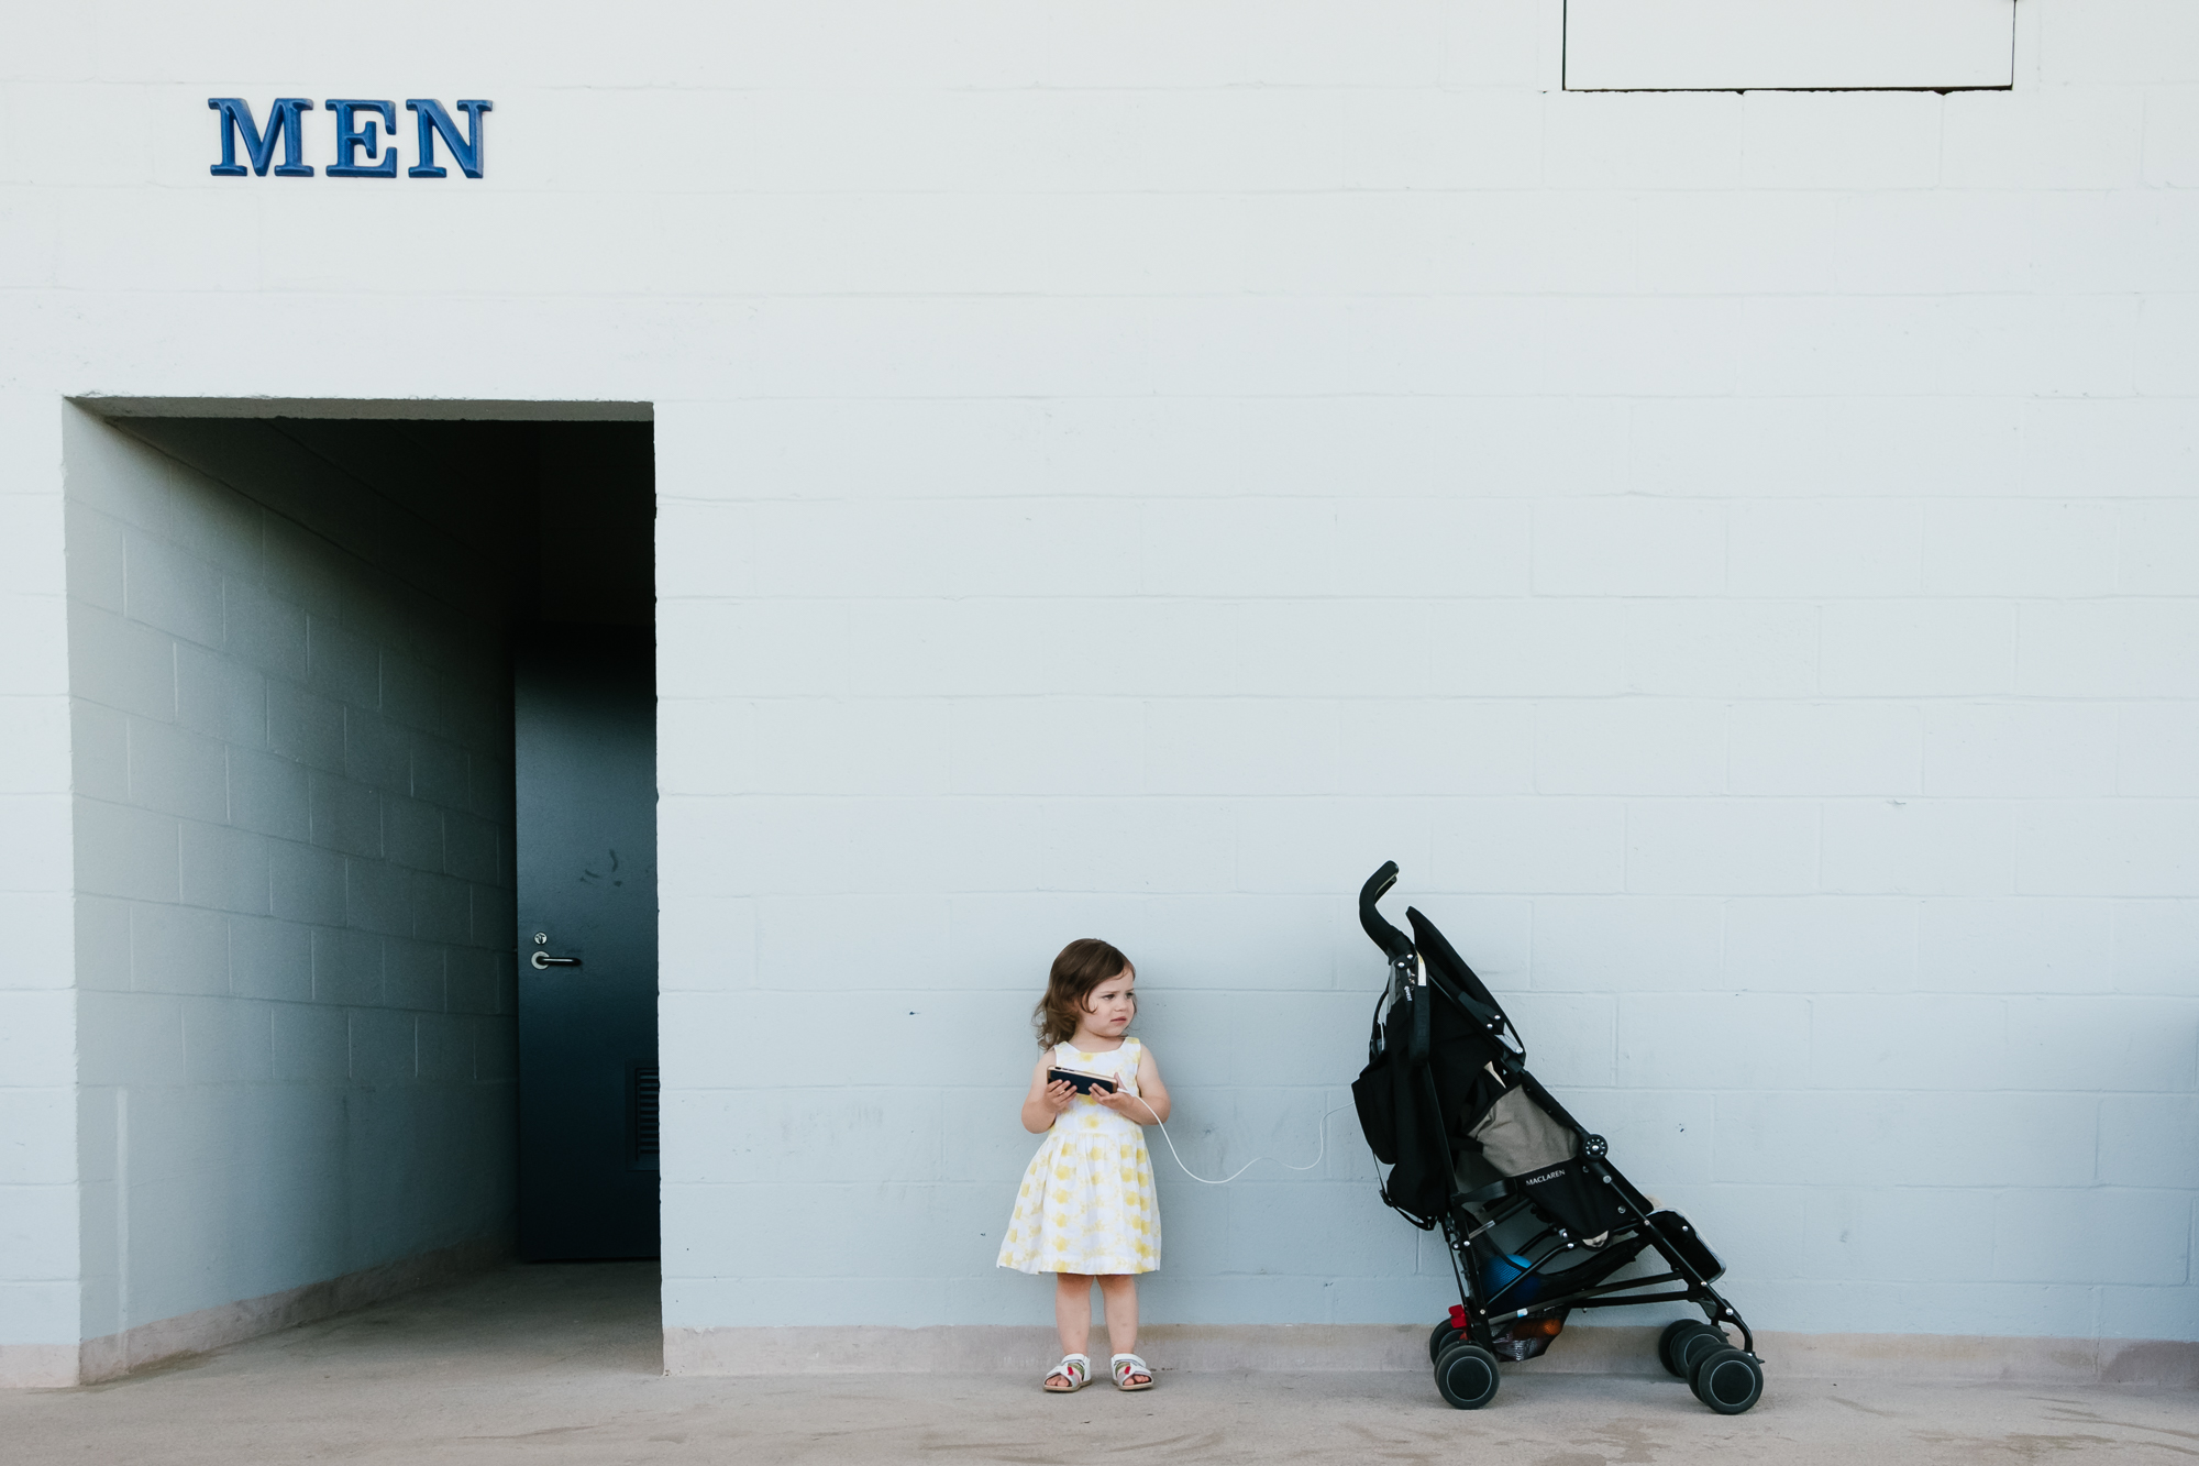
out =
<svg viewBox="0 0 2199 1466"><path fill-rule="evenodd" d="M1511 1376L1478 1413L1425 1374L1168 1374L1067 1400L1025 1376L658 1374L653 1263L506 1268L86 1389L0 1393L44 1462L2175 1462L2199 1393L1783 1380L1739 1418L1676 1380Z"/></svg>

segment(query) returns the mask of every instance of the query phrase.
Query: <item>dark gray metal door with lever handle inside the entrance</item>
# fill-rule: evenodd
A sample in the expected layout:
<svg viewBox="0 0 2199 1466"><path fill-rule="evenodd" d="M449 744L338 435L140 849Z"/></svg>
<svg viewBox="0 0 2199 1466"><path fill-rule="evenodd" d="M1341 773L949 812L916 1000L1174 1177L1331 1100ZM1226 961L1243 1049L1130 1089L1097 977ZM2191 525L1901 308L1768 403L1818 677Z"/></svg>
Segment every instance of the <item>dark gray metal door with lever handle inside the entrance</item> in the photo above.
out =
<svg viewBox="0 0 2199 1466"><path fill-rule="evenodd" d="M658 744L649 634L515 656L519 1255L658 1255Z"/></svg>

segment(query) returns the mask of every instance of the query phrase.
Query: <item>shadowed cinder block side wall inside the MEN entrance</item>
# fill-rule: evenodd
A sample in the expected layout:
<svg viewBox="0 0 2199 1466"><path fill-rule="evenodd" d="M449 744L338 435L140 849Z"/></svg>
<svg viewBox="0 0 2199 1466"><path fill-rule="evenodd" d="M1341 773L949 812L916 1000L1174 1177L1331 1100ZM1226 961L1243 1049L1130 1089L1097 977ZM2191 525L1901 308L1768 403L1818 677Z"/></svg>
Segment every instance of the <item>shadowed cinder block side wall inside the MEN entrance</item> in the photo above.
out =
<svg viewBox="0 0 2199 1466"><path fill-rule="evenodd" d="M68 412L92 1374L510 1230L499 577L314 445Z"/></svg>

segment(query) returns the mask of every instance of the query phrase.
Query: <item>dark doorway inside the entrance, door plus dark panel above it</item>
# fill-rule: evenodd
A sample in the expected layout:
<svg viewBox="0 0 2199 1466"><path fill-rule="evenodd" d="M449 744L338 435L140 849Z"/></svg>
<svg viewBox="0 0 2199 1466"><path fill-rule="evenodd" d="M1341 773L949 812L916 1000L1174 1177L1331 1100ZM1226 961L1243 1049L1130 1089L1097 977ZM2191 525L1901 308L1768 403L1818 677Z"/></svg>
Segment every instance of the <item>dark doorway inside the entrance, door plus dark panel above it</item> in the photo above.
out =
<svg viewBox="0 0 2199 1466"><path fill-rule="evenodd" d="M541 425L512 647L519 1255L658 1255L655 493L647 425Z"/></svg>

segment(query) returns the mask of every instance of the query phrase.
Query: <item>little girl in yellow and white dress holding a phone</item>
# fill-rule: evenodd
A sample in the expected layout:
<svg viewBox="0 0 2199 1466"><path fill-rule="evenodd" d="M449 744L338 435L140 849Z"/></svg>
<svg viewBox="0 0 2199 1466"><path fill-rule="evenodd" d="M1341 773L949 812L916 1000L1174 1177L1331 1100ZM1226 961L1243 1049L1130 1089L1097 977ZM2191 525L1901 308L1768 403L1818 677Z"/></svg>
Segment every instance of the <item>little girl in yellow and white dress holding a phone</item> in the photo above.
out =
<svg viewBox="0 0 2199 1466"><path fill-rule="evenodd" d="M1108 1360L1117 1389L1152 1389L1137 1349L1137 1272L1161 1266L1161 1211L1152 1200L1146 1125L1168 1118L1168 1087L1152 1052L1126 1037L1137 1017L1137 969L1095 938L1053 960L1038 1026L1038 1068L1023 1101L1023 1127L1047 1142L1031 1156L1001 1266L1053 1274L1053 1327L1062 1363L1047 1389L1067 1396L1091 1382L1084 1341L1093 1323L1093 1279L1106 1308ZM1113 1087L1080 1094L1047 1070L1097 1074Z"/></svg>

